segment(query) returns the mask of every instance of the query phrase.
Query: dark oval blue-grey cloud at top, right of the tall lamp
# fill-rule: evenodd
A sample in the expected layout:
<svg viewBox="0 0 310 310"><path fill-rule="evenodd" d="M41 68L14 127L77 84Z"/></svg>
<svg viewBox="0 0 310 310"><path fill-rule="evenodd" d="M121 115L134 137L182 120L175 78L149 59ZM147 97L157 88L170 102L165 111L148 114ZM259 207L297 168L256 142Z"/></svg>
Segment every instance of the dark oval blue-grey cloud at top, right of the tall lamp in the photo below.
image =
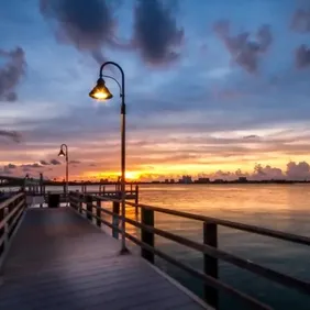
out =
<svg viewBox="0 0 310 310"><path fill-rule="evenodd" d="M133 45L145 62L162 65L178 59L182 40L171 7L160 0L136 1Z"/></svg>

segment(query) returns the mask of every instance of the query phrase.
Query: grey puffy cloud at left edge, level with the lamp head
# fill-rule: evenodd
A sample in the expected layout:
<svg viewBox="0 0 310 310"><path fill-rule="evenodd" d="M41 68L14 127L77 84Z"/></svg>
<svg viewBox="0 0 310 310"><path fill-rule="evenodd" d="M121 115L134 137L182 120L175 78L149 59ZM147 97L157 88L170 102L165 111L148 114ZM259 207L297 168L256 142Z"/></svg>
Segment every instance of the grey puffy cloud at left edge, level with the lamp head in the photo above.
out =
<svg viewBox="0 0 310 310"><path fill-rule="evenodd" d="M4 59L4 66L0 68L0 101L15 101L16 87L25 73L25 54L21 47L12 51L0 48L1 58Z"/></svg>

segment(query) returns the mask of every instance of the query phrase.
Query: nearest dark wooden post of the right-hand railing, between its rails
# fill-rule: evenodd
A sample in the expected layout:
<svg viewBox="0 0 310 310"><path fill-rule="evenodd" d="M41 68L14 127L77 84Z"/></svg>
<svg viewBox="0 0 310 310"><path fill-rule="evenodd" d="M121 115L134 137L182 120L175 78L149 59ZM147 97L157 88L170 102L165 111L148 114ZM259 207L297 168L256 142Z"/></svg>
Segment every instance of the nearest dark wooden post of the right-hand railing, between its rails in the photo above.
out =
<svg viewBox="0 0 310 310"><path fill-rule="evenodd" d="M218 225L211 222L203 222L203 243L206 245L218 248ZM203 269L207 276L218 279L219 262L218 258L211 257L208 254L203 255ZM213 287L204 285L204 299L208 305L214 309L219 308L219 294Z"/></svg>

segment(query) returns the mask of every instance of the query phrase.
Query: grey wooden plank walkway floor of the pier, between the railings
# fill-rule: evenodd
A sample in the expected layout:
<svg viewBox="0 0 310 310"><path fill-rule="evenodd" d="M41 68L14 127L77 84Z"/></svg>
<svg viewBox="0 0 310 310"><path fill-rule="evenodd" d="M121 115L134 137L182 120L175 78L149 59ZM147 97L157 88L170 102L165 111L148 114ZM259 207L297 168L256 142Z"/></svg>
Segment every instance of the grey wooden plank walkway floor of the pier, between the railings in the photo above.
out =
<svg viewBox="0 0 310 310"><path fill-rule="evenodd" d="M203 309L68 208L29 209L3 265L0 309Z"/></svg>

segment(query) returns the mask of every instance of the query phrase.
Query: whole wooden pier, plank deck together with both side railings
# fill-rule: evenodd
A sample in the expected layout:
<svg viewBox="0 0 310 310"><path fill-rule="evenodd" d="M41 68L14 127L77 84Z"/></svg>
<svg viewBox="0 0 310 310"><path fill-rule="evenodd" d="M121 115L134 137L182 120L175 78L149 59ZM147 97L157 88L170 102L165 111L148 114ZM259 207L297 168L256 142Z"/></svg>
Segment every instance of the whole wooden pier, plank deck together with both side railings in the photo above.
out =
<svg viewBox="0 0 310 310"><path fill-rule="evenodd" d="M310 284L218 248L218 226L226 226L309 246L310 239L275 230L126 201L141 220L122 218L119 191L107 196L73 191L64 208L29 208L19 192L0 203L0 309L219 309L219 291L244 302L245 309L273 309L224 284L219 261L230 263L310 298ZM102 201L113 204L112 211ZM104 204L106 206L106 204ZM156 228L155 213L186 218L203 225L203 243ZM108 221L107 215L112 220ZM132 235L121 221L140 230ZM112 236L102 231L112 230ZM141 247L141 255L120 254L118 237ZM155 235L203 255L198 270L156 247ZM154 266L156 257L204 284L204 300Z"/></svg>

